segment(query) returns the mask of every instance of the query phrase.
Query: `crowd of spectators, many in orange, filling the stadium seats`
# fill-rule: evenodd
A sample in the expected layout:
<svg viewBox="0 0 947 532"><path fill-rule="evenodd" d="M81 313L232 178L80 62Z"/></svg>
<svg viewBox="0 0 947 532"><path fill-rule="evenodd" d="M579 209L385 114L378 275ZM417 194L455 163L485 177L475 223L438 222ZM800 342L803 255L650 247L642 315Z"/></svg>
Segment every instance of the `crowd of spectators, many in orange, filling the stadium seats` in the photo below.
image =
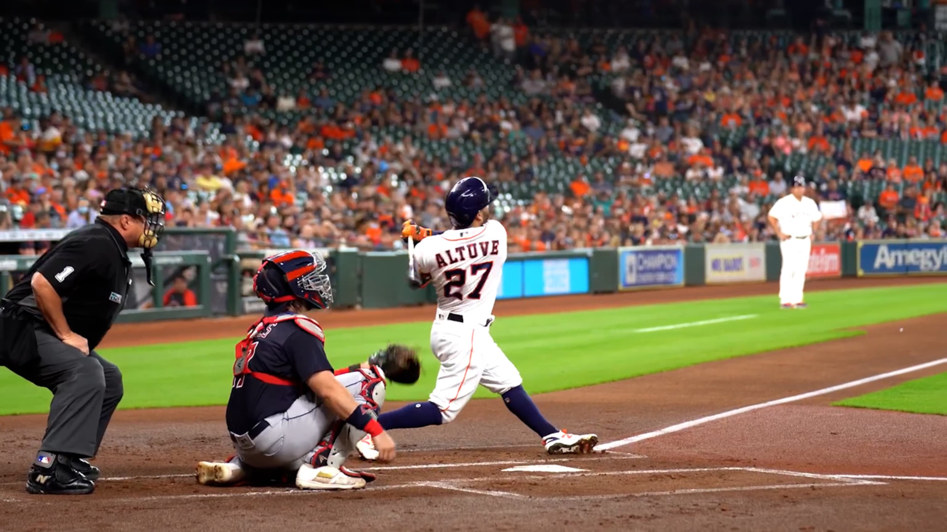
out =
<svg viewBox="0 0 947 532"><path fill-rule="evenodd" d="M220 83L207 88L213 122L152 115L144 133L60 112L21 120L0 91L0 228L87 223L102 190L127 183L162 193L170 226L233 226L243 246L384 249L402 245L405 219L446 227L446 188L479 175L503 192L511 250L759 241L803 172L813 197L841 205L819 239L945 237L947 110L920 39L576 36L476 10L467 23L460 39L485 62L441 69L388 48L360 66L378 82L348 98L354 74L329 57L299 85L264 66L292 50L249 33L207 78ZM140 41L119 27L116 41L129 71L177 61L151 27ZM0 66L0 86L42 92L43 69L22 61ZM87 82L149 98L128 73Z"/></svg>

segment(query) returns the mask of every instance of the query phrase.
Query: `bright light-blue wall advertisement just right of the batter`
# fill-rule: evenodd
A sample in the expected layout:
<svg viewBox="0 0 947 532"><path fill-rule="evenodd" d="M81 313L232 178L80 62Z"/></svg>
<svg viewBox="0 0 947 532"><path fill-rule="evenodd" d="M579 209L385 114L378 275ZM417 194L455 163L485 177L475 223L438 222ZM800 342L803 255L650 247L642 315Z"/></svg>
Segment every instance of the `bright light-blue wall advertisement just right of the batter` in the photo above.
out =
<svg viewBox="0 0 947 532"><path fill-rule="evenodd" d="M497 299L589 292L588 257L511 260Z"/></svg>

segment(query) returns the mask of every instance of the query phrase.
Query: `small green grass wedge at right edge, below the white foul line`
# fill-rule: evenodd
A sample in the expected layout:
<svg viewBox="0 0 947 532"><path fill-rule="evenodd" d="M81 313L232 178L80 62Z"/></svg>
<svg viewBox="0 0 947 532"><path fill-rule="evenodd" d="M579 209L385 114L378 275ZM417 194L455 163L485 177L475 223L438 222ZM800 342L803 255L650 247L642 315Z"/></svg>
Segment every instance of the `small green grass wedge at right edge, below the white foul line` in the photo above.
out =
<svg viewBox="0 0 947 532"><path fill-rule="evenodd" d="M885 390L840 400L834 404L947 416L947 373L902 382Z"/></svg>

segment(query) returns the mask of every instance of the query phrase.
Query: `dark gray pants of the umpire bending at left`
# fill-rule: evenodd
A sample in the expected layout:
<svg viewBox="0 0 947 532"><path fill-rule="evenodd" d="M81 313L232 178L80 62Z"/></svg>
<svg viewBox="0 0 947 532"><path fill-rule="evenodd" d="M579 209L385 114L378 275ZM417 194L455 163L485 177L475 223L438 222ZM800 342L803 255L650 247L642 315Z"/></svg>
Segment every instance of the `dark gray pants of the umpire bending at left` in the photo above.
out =
<svg viewBox="0 0 947 532"><path fill-rule="evenodd" d="M53 393L41 451L95 456L124 393L116 364L36 329L39 361L21 374Z"/></svg>

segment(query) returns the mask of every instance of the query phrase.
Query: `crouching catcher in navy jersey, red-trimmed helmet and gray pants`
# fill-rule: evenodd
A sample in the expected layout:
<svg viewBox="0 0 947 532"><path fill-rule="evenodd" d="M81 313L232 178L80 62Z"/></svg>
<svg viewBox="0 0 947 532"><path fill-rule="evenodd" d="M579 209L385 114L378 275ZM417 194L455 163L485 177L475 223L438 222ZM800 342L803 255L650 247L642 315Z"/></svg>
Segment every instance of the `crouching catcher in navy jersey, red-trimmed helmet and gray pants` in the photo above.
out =
<svg viewBox="0 0 947 532"><path fill-rule="evenodd" d="M237 344L227 402L237 453L226 462L200 462L199 484L272 480L295 471L297 488L365 488L375 476L343 464L366 433L381 460L395 457L395 443L377 417L385 378L418 381L418 357L389 345L366 363L333 371L322 328L301 313L331 303L325 270L323 258L308 251L263 259L253 289L266 311Z"/></svg>

